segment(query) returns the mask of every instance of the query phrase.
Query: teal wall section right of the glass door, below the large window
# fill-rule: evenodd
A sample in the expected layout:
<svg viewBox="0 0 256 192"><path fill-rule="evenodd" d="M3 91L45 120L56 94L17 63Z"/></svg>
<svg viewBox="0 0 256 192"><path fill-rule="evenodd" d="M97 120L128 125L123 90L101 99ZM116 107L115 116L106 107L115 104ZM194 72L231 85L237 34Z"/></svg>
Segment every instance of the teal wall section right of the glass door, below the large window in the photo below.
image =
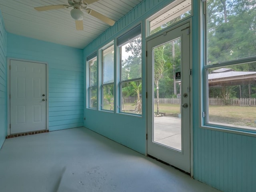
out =
<svg viewBox="0 0 256 192"><path fill-rule="evenodd" d="M194 0L193 105L200 106L202 56L200 48L200 1ZM256 137L200 128L200 108L193 108L194 178L224 192L256 189Z"/></svg>

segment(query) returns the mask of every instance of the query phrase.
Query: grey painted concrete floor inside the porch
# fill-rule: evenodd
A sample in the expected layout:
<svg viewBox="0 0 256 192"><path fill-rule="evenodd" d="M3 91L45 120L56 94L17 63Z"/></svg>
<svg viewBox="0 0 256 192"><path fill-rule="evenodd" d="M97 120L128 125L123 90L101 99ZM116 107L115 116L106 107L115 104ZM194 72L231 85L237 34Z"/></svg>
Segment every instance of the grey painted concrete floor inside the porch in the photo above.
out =
<svg viewBox="0 0 256 192"><path fill-rule="evenodd" d="M6 139L1 192L217 192L86 128Z"/></svg>

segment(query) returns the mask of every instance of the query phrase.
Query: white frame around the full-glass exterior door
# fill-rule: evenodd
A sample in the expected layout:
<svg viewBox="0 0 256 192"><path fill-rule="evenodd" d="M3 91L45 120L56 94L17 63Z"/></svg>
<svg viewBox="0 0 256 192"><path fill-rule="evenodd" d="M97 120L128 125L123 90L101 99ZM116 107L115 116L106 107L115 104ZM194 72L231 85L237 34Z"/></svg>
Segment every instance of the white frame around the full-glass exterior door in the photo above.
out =
<svg viewBox="0 0 256 192"><path fill-rule="evenodd" d="M157 32L156 34L153 34L152 36L149 36L148 38L146 38L146 43L148 43L148 41L154 39L154 38L157 38L158 36L161 36L161 35L164 35L166 34L167 32L171 31L171 30L174 30L180 26L183 26L185 24L188 24L189 23L189 26L190 26L190 45L189 45L189 48L190 48L190 68L192 70L192 75L190 76L190 177L193 178L194 176L194 150L193 150L193 144L194 144L194 140L193 140L193 63L192 63L192 19L191 18L188 18L187 20L184 20L183 22L179 22L177 24L174 24L173 26L170 26L168 28L165 28L159 32ZM198 45L200 46L200 45ZM146 50L148 51L148 50ZM147 60L147 59L146 59ZM148 75L148 64L146 63L146 76ZM146 77L146 80L148 82L148 76ZM148 90L148 85L146 85L146 92L148 92L150 90ZM148 98L146 98L148 99ZM147 105L148 102L146 102L146 105ZM148 109L146 110L147 112L147 120L146 120L146 135L148 135L148 118L151 118L151 115L152 114L149 114L148 112ZM150 115L150 116L149 116ZM146 138L146 153L145 155L148 156L148 144L147 144L147 139Z"/></svg>

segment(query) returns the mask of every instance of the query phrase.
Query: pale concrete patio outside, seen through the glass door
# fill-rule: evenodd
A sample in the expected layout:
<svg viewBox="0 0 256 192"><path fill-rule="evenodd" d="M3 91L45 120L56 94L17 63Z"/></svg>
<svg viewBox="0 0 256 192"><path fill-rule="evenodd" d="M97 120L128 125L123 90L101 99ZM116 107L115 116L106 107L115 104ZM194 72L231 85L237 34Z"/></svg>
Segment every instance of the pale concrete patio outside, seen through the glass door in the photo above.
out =
<svg viewBox="0 0 256 192"><path fill-rule="evenodd" d="M154 117L154 142L181 150L181 119Z"/></svg>

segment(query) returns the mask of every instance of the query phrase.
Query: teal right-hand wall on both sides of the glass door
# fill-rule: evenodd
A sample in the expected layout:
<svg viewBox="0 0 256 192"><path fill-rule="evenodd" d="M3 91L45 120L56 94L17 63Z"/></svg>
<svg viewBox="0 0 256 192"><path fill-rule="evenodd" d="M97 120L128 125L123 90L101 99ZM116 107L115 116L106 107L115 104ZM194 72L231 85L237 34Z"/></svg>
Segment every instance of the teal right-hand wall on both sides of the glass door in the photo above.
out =
<svg viewBox="0 0 256 192"><path fill-rule="evenodd" d="M142 22L142 38L145 38L145 21L148 16L166 6L171 1L145 0L109 28L99 38L84 49L86 56L114 40L120 34ZM200 25L201 1L193 0L192 16L192 78L193 78L193 169L194 178L224 192L253 192L256 189L256 138L241 134L220 132L201 128L202 90L202 26ZM145 50L145 40L142 40ZM199 53L199 54L198 54ZM143 86L146 84L145 51L142 51ZM86 78L84 79L86 82ZM86 92L85 92L86 93ZM145 90L143 91L145 96ZM85 98L86 99L86 98ZM142 154L146 153L146 110L143 99L142 118L124 116L84 108L84 126L116 142L124 144ZM86 101L86 100L85 100Z"/></svg>

